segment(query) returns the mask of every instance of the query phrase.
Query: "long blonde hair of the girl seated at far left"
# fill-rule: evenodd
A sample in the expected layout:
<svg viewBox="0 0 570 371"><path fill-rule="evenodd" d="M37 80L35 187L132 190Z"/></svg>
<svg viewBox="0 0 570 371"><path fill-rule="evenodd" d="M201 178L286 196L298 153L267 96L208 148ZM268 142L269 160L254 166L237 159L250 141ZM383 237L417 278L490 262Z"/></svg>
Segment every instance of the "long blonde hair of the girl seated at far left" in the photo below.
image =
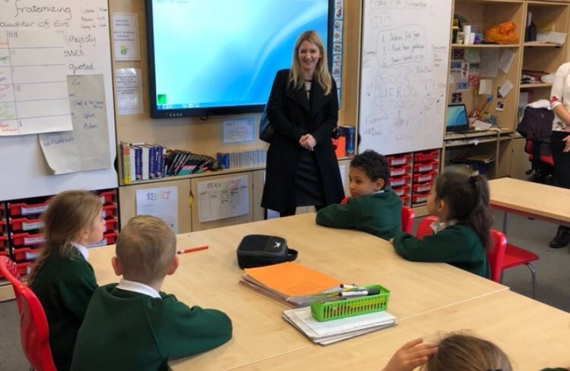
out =
<svg viewBox="0 0 570 371"><path fill-rule="evenodd" d="M47 210L41 216L45 242L28 284L34 282L52 252L58 251L62 258L73 259L76 248L71 243L78 242L81 234L91 229L101 209L98 197L85 190L61 192L49 200Z"/></svg>

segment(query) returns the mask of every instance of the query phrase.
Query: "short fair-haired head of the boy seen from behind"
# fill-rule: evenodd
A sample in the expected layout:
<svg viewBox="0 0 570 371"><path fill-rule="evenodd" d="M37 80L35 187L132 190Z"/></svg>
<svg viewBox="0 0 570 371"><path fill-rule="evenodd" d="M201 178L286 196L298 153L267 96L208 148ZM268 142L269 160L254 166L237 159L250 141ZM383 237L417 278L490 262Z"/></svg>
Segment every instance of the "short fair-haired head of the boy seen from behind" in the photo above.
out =
<svg viewBox="0 0 570 371"><path fill-rule="evenodd" d="M152 284L168 273L176 255L176 236L155 216L135 216L121 230L115 254L126 280Z"/></svg>

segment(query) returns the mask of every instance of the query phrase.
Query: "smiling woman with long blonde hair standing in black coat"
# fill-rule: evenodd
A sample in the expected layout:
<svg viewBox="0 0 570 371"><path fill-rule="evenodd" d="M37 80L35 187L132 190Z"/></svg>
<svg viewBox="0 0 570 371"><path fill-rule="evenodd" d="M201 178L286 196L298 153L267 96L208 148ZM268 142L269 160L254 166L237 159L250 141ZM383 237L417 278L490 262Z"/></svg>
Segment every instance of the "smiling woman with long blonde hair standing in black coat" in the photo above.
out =
<svg viewBox="0 0 570 371"><path fill-rule="evenodd" d="M276 133L267 151L262 207L289 216L297 206L319 210L343 199L330 139L338 111L323 42L317 32L306 31L295 43L291 68L277 71L267 102Z"/></svg>

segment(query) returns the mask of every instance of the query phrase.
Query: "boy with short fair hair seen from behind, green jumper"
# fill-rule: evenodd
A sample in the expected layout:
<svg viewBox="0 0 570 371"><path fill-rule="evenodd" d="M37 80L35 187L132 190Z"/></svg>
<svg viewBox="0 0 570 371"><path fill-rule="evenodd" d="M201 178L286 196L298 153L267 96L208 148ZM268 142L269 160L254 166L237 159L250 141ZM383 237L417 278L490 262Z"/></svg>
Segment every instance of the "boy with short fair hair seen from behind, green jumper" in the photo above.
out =
<svg viewBox="0 0 570 371"><path fill-rule="evenodd" d="M115 254L113 269L123 279L93 294L71 370L168 370L168 359L229 341L232 328L225 313L190 308L160 291L179 265L176 236L166 223L154 216L130 219Z"/></svg>

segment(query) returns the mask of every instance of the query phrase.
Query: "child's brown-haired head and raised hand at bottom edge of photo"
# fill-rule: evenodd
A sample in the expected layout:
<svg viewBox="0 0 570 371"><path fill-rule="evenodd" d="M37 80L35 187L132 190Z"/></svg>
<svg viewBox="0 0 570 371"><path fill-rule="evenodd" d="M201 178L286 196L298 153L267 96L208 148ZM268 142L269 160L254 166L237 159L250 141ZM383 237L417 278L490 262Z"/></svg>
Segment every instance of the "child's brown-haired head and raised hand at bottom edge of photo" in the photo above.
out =
<svg viewBox="0 0 570 371"><path fill-rule="evenodd" d="M404 344L382 371L512 371L509 357L490 341L462 333L446 335L436 345L422 344L415 339ZM545 368L542 371L568 371L566 368Z"/></svg>

